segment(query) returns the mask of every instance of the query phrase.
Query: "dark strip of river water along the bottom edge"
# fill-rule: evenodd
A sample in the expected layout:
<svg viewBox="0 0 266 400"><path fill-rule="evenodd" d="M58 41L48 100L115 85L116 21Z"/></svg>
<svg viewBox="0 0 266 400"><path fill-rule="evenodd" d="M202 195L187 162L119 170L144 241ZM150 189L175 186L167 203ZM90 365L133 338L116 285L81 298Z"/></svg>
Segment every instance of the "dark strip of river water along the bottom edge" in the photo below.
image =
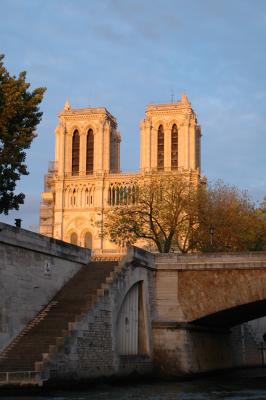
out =
<svg viewBox="0 0 266 400"><path fill-rule="evenodd" d="M55 391L37 396L3 396L5 400L266 400L265 377L234 374L183 382L101 384L83 391Z"/></svg>

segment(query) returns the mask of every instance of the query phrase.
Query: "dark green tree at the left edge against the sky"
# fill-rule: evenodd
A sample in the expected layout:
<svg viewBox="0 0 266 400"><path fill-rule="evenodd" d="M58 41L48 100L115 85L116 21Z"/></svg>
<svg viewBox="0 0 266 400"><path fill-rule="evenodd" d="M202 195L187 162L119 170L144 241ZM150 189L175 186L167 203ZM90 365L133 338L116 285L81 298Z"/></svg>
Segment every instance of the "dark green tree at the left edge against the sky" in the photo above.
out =
<svg viewBox="0 0 266 400"><path fill-rule="evenodd" d="M0 213L8 214L24 202L23 193L15 194L21 175L28 175L26 152L36 136L41 120L39 104L45 88L32 92L26 72L10 76L0 55Z"/></svg>

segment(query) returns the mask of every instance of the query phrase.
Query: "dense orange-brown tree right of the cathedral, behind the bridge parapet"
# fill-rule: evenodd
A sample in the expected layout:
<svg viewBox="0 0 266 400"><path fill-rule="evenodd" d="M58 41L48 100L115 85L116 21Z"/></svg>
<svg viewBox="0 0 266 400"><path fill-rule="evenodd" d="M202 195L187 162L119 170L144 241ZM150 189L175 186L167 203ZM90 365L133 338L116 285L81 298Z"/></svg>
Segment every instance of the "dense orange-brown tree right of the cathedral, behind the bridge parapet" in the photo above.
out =
<svg viewBox="0 0 266 400"><path fill-rule="evenodd" d="M197 248L201 251L262 250L263 218L246 192L218 181L199 193ZM212 236L212 238L211 238Z"/></svg>

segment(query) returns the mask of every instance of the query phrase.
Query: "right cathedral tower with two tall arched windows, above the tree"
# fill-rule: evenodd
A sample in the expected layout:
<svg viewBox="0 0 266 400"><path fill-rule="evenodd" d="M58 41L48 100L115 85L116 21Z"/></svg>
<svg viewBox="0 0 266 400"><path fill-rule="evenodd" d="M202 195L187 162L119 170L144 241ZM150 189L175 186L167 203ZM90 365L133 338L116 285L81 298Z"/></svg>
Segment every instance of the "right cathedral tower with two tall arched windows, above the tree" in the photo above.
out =
<svg viewBox="0 0 266 400"><path fill-rule="evenodd" d="M150 104L140 125L140 170L200 173L201 130L186 95L176 103Z"/></svg>

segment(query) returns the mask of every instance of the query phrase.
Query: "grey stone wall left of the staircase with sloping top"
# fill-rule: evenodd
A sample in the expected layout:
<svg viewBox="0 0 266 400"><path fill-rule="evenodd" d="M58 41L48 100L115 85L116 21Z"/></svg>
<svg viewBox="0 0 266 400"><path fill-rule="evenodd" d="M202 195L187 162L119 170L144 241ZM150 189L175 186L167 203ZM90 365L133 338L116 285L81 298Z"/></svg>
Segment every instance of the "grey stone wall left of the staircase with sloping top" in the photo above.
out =
<svg viewBox="0 0 266 400"><path fill-rule="evenodd" d="M90 250L0 223L0 351L89 258Z"/></svg>

